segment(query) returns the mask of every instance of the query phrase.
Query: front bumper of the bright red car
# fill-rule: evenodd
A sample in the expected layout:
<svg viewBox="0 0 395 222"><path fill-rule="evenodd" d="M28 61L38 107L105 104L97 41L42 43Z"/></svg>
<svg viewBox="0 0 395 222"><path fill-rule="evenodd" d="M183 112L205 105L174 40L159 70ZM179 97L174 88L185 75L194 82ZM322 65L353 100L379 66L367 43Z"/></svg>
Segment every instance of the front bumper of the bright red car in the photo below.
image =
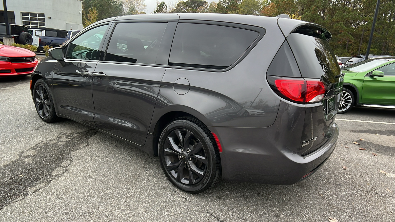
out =
<svg viewBox="0 0 395 222"><path fill-rule="evenodd" d="M28 75L32 73L37 63L37 59L35 59L33 62L23 63L0 62L0 77Z"/></svg>

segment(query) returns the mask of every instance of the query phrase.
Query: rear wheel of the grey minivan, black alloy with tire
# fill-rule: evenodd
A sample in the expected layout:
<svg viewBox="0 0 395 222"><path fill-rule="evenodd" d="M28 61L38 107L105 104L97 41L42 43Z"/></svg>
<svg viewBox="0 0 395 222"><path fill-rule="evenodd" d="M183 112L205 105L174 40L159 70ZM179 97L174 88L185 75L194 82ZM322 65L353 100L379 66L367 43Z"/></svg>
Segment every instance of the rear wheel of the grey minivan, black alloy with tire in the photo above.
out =
<svg viewBox="0 0 395 222"><path fill-rule="evenodd" d="M159 156L167 178L186 192L203 192L220 179L218 148L211 132L196 119L170 122L159 140Z"/></svg>

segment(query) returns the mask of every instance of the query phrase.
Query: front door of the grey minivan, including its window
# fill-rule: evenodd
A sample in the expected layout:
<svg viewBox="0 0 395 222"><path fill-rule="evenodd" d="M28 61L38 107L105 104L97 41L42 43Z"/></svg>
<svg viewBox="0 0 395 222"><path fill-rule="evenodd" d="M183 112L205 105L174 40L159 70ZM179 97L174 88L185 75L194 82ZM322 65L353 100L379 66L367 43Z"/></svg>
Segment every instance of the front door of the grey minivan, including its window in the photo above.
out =
<svg viewBox="0 0 395 222"><path fill-rule="evenodd" d="M68 43L64 63L58 61L53 71L52 92L57 113L89 126L95 126L92 73L107 26L92 28Z"/></svg>

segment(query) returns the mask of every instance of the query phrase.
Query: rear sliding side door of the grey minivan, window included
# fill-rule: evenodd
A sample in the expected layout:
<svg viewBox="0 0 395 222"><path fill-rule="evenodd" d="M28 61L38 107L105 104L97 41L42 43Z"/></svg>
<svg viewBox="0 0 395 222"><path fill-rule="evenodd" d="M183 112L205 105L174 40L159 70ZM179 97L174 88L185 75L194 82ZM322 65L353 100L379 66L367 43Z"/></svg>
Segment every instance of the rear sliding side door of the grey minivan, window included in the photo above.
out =
<svg viewBox="0 0 395 222"><path fill-rule="evenodd" d="M166 70L155 64L166 27L167 22L116 24L93 77L94 121L100 130L145 144Z"/></svg>

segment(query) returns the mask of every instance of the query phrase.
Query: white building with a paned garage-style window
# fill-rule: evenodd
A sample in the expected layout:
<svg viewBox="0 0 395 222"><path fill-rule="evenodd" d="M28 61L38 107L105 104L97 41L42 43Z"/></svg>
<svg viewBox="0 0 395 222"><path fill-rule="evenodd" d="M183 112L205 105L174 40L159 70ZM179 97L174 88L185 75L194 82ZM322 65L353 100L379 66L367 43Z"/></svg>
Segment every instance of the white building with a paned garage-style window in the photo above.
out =
<svg viewBox="0 0 395 222"><path fill-rule="evenodd" d="M4 23L0 3L0 23ZM8 22L28 28L82 30L81 4L80 0L7 0Z"/></svg>

